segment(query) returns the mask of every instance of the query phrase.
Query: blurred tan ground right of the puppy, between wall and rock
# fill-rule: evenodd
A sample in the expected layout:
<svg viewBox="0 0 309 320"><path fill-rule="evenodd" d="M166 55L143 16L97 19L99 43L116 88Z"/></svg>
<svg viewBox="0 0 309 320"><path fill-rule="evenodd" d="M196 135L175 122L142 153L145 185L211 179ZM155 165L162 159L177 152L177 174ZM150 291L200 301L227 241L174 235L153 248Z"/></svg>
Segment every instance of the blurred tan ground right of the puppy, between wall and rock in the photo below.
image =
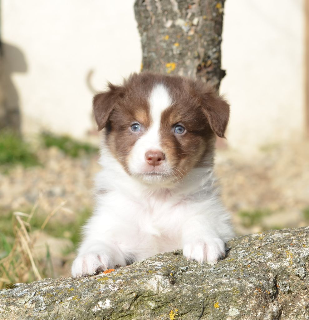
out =
<svg viewBox="0 0 309 320"><path fill-rule="evenodd" d="M220 151L216 171L240 235L309 224L309 141L269 146L247 158ZM268 213L258 224L243 226L237 213L257 209Z"/></svg>

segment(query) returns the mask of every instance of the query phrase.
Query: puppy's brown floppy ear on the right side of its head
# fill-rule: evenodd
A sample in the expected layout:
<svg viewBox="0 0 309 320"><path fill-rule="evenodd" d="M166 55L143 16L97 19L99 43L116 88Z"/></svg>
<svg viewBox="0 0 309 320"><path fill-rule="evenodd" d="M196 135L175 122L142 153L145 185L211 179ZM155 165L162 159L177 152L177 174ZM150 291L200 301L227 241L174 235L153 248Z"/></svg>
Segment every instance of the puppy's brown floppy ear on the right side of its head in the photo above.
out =
<svg viewBox="0 0 309 320"><path fill-rule="evenodd" d="M224 133L228 126L230 106L211 87L206 87L202 94L202 110L210 124L212 131L220 138L225 138Z"/></svg>

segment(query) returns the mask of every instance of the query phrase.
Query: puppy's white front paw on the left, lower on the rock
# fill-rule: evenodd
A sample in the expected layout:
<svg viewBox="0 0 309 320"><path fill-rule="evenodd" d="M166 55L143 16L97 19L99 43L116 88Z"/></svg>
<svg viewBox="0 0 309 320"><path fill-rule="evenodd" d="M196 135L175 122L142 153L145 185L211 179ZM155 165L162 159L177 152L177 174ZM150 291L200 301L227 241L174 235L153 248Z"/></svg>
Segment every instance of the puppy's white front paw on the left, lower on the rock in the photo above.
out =
<svg viewBox="0 0 309 320"><path fill-rule="evenodd" d="M72 265L73 277L86 277L108 269L110 259L105 253L89 252L78 255Z"/></svg>

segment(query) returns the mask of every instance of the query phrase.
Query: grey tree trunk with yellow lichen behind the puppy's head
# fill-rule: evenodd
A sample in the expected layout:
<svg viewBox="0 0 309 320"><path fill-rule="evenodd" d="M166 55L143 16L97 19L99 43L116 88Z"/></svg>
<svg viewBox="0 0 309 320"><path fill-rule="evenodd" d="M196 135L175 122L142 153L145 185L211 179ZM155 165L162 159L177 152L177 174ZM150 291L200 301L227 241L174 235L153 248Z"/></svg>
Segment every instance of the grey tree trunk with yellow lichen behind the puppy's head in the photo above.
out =
<svg viewBox="0 0 309 320"><path fill-rule="evenodd" d="M143 71L200 78L219 88L224 0L136 0Z"/></svg>

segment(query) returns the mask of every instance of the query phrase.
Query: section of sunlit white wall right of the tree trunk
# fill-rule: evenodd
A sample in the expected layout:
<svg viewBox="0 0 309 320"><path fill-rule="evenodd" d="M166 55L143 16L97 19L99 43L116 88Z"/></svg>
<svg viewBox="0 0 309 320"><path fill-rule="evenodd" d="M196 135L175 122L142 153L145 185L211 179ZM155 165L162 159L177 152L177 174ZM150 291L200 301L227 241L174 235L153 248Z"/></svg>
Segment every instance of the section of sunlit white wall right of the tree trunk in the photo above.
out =
<svg viewBox="0 0 309 320"><path fill-rule="evenodd" d="M304 2L227 0L220 90L229 145L251 149L304 133Z"/></svg>

